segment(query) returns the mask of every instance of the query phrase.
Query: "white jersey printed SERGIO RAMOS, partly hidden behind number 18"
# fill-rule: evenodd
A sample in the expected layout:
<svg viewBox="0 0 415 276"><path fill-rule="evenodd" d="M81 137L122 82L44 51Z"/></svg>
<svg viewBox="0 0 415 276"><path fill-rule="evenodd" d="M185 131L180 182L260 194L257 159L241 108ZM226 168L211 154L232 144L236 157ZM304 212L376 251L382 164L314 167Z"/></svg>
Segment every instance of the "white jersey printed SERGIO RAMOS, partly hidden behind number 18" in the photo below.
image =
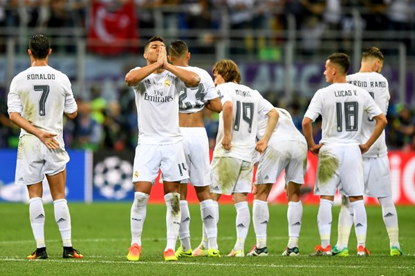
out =
<svg viewBox="0 0 415 276"><path fill-rule="evenodd" d="M389 84L387 79L377 72L358 72L346 77L348 83L355 86L359 86L369 92L378 104L380 110L386 115L387 108L389 106ZM369 117L363 117L362 122L362 144L366 143L369 139L371 132L374 130L376 121L369 119ZM380 137L369 148L363 157L382 157L387 155L387 146L385 140L385 130L383 130Z"/></svg>

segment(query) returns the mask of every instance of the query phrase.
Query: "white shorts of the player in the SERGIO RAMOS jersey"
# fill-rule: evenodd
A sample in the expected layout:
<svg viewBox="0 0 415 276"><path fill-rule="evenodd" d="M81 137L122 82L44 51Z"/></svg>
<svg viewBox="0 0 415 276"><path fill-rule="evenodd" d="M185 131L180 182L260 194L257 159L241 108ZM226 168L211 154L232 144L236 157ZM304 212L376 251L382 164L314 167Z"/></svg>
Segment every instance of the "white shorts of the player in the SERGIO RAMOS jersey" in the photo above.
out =
<svg viewBox="0 0 415 276"><path fill-rule="evenodd" d="M391 191L391 174L389 158L369 157L363 158L363 171L365 174L365 191L367 197L389 197ZM343 191L340 190L342 195Z"/></svg>

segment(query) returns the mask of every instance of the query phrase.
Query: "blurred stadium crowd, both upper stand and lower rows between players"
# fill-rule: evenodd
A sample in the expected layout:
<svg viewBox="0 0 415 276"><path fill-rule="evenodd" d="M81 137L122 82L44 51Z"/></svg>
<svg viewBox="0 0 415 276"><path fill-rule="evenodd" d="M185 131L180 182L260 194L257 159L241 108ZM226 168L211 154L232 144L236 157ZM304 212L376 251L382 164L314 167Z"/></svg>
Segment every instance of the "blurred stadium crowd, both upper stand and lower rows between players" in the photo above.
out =
<svg viewBox="0 0 415 276"><path fill-rule="evenodd" d="M0 0L0 53L6 51L6 37L17 35L15 29L25 26L37 28L48 33L49 28L72 28L84 30L86 35L89 26L91 6L95 2L104 2L110 9L117 10L129 0ZM137 30L140 39L147 40L145 32L154 30L156 21L151 11L162 9L165 28L176 24L179 30L188 29L219 29L221 17L219 10L226 7L230 18L231 30L272 29L286 30L287 20L284 14L293 14L297 30L302 39L303 55L318 53L324 32L337 30L347 34L353 30L351 19L352 8L359 8L364 19L364 28L369 39L371 30L415 30L415 3L407 0L134 0L136 6ZM166 12L166 8L174 12ZM150 12L149 12L150 11ZM154 32L149 35L151 37ZM49 35L52 41L59 33ZM214 39L207 39L207 41ZM281 38L283 41L284 37ZM340 38L339 38L340 39ZM278 39L277 39L278 40ZM402 36L396 40L403 41L407 46L407 54L415 55L414 37ZM342 41L344 42L344 41ZM243 50L249 52L250 42ZM341 49L339 43L337 50ZM380 46L381 47L381 46ZM71 46L54 48L54 52L74 51ZM198 49L190 49L198 52ZM384 51L388 55L387 50ZM123 81L120 80L120 83ZM129 88L120 85L116 99L108 98L102 92L101 83L91 86L89 99L77 99L79 116L75 121L65 122L65 141L68 148L102 148L122 150L135 148L138 137L136 127L137 114L134 107L133 93ZM6 92L7 94L7 92ZM75 95L76 97L76 95ZM274 106L286 108L293 115L295 124L301 130L301 120L310 99L278 99L275 91L264 95ZM390 149L415 150L415 110L391 99L387 119L387 144ZM205 110L205 128L210 138L210 147L215 144L218 128L218 116ZM320 137L320 126L315 127L315 139ZM7 114L6 99L0 99L0 148L17 148L19 128L10 123Z"/></svg>

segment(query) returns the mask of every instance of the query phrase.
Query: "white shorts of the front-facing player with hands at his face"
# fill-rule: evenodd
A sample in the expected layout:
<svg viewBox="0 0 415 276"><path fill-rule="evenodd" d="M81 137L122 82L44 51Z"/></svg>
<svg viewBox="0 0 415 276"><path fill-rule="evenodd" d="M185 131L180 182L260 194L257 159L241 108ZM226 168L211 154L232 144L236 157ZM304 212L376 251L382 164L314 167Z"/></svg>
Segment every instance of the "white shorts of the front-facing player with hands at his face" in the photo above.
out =
<svg viewBox="0 0 415 276"><path fill-rule="evenodd" d="M154 184L158 170L163 180L170 182L189 178L183 144L149 145L138 144L133 165L133 183L148 181Z"/></svg>

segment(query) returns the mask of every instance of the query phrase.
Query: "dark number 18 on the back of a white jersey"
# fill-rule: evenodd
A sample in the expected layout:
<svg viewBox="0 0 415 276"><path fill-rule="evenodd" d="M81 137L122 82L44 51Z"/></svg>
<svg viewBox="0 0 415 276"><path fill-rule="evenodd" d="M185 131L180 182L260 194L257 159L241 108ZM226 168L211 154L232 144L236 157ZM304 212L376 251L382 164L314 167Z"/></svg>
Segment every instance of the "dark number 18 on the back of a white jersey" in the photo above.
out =
<svg viewBox="0 0 415 276"><path fill-rule="evenodd" d="M358 106L359 103L357 101L346 101L343 110L342 103L335 103L338 132L343 131L343 116L346 122L346 131L358 130Z"/></svg>

